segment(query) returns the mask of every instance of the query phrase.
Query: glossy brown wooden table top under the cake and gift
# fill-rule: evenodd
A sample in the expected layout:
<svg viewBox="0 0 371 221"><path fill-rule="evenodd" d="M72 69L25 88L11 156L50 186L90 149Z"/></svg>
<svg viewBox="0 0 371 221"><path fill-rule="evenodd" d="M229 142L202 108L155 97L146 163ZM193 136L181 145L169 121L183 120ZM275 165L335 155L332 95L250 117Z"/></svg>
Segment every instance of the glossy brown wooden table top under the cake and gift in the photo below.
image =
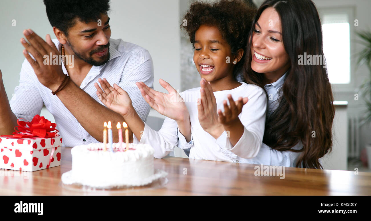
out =
<svg viewBox="0 0 371 221"><path fill-rule="evenodd" d="M371 173L285 168L285 178L255 176L254 164L177 157L155 159L168 182L151 188L83 191L66 188L61 175L71 169L71 148L62 148L61 166L23 176L0 176L0 195L371 195ZM258 165L260 166L260 165ZM3 169L4 170L4 169ZM19 171L14 171L18 172Z"/></svg>

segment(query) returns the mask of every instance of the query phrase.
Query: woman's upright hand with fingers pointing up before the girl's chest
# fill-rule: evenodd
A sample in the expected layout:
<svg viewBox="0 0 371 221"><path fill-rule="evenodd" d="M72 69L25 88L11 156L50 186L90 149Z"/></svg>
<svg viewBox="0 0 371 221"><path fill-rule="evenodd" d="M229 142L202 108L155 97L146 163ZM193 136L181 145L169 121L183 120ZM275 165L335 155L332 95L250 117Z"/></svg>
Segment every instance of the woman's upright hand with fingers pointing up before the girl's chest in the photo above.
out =
<svg viewBox="0 0 371 221"><path fill-rule="evenodd" d="M218 121L219 116L216 111L216 99L213 93L213 88L206 79L200 81L201 98L197 101L198 121L204 131L217 139L223 132L223 125Z"/></svg>

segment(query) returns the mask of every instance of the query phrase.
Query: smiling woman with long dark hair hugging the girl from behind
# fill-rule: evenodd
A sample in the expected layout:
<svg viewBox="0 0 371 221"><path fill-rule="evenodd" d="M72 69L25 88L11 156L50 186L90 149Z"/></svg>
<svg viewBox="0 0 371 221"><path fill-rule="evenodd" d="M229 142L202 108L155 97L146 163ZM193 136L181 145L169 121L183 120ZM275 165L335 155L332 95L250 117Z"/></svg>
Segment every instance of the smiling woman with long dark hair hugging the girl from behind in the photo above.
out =
<svg viewBox="0 0 371 221"><path fill-rule="evenodd" d="M249 36L244 80L264 86L271 99L264 144L248 162L268 159L263 163L322 168L319 158L332 146L331 84L324 64L298 64L298 56L304 53L323 56L321 22L314 3L266 0L257 10Z"/></svg>

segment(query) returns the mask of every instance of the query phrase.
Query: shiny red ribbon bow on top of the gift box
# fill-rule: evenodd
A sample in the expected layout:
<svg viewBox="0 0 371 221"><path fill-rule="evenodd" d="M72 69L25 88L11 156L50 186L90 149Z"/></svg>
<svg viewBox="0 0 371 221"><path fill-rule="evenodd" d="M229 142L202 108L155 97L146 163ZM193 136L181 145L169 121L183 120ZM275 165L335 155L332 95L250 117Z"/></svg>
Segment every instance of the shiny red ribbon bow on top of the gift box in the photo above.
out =
<svg viewBox="0 0 371 221"><path fill-rule="evenodd" d="M22 118L20 118L22 119ZM18 126L14 127L13 135L3 135L9 138L53 138L57 137L58 130L55 129L56 123L52 123L43 116L35 115L31 122L17 120ZM52 132L55 131L55 132Z"/></svg>

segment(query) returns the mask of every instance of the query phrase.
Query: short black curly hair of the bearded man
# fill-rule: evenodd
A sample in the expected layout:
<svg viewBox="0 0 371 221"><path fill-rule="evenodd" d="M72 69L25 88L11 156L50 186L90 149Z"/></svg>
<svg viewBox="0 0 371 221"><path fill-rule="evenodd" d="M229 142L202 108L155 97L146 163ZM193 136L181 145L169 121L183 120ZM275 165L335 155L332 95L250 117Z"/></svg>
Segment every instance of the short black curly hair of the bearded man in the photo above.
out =
<svg viewBox="0 0 371 221"><path fill-rule="evenodd" d="M68 36L68 29L76 19L89 23L98 21L101 14L109 11L109 0L43 0L46 15L52 27Z"/></svg>

